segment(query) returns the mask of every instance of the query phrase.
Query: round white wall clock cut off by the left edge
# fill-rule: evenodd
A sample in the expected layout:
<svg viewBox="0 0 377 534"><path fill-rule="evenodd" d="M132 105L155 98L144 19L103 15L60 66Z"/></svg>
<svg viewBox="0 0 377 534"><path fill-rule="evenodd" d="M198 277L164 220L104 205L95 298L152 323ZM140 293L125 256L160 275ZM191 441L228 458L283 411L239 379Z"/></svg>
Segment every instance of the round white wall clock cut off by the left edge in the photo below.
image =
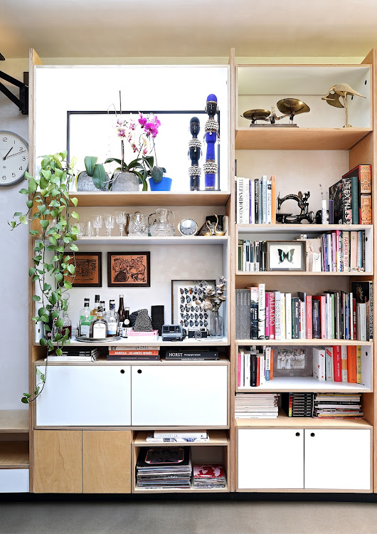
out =
<svg viewBox="0 0 377 534"><path fill-rule="evenodd" d="M0 186L21 182L28 169L28 143L12 132L0 131Z"/></svg>

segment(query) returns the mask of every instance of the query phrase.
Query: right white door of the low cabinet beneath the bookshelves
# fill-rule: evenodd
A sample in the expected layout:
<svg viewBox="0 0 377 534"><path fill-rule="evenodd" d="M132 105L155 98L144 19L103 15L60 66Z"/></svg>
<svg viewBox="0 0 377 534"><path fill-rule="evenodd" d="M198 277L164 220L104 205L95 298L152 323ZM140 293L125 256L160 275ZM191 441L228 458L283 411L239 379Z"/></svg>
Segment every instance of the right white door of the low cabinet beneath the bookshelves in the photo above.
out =
<svg viewBox="0 0 377 534"><path fill-rule="evenodd" d="M305 429L305 488L371 489L370 429Z"/></svg>

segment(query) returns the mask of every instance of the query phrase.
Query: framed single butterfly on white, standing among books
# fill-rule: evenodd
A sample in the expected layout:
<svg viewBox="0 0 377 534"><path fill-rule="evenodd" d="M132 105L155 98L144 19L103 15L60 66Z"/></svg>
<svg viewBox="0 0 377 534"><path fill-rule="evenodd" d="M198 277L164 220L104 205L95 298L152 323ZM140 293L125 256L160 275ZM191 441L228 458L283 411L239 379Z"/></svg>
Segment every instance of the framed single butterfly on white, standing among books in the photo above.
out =
<svg viewBox="0 0 377 534"><path fill-rule="evenodd" d="M267 271L305 271L306 241L266 241Z"/></svg>

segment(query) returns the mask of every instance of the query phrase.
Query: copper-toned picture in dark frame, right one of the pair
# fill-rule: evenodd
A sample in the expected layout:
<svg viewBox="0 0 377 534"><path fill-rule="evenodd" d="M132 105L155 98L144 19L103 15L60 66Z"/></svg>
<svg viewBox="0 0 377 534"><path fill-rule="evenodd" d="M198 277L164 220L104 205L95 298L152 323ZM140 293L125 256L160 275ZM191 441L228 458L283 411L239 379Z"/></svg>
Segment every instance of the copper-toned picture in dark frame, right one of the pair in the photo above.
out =
<svg viewBox="0 0 377 534"><path fill-rule="evenodd" d="M107 252L107 286L149 288L150 252Z"/></svg>

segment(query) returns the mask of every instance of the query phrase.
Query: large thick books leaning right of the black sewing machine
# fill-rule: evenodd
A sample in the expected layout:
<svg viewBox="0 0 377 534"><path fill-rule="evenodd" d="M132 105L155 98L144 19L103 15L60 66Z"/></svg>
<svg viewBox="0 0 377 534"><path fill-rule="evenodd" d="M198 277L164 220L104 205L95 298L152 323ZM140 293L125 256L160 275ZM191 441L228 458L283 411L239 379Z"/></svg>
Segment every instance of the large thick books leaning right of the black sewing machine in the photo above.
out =
<svg viewBox="0 0 377 534"><path fill-rule="evenodd" d="M329 188L329 223L372 224L371 165L357 165Z"/></svg>

